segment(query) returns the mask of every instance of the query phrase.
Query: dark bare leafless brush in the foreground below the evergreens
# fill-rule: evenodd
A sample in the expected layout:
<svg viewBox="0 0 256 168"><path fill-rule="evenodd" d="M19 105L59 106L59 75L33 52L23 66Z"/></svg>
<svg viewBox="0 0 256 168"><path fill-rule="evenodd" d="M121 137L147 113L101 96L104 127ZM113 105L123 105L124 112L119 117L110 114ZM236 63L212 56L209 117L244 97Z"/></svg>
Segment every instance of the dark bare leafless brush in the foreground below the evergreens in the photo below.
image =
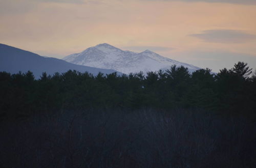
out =
<svg viewBox="0 0 256 168"><path fill-rule="evenodd" d="M1 167L255 167L255 124L200 110L85 110L0 123Z"/></svg>

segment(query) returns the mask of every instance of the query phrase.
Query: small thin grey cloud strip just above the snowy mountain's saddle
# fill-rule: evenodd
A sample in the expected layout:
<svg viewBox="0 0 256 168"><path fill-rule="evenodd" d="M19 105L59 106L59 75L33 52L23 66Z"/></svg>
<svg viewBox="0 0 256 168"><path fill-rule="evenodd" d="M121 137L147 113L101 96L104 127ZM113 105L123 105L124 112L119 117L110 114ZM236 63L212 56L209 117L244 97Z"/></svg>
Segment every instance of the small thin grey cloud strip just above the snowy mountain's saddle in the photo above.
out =
<svg viewBox="0 0 256 168"><path fill-rule="evenodd" d="M131 50L131 51L137 51L137 52L141 52L141 51L144 51L146 49L152 50L154 52L169 51L169 50L174 49L172 47L159 47L159 46L127 46L127 47L121 47L121 48Z"/></svg>

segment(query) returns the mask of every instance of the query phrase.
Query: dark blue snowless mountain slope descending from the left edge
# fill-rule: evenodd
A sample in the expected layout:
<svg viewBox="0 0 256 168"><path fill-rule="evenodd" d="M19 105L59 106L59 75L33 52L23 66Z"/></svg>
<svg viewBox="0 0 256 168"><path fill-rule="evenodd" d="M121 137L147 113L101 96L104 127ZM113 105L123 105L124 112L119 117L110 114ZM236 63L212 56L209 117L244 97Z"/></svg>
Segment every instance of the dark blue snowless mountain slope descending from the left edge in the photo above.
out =
<svg viewBox="0 0 256 168"><path fill-rule="evenodd" d="M110 69L99 69L82 65L75 65L63 60L41 57L33 52L25 51L5 44L0 44L0 71L17 73L19 71L32 71L36 78L39 78L42 72L54 74L55 72L67 72L76 70L79 72L89 72L97 75L99 72L108 74L116 72ZM118 72L118 74L121 74Z"/></svg>

